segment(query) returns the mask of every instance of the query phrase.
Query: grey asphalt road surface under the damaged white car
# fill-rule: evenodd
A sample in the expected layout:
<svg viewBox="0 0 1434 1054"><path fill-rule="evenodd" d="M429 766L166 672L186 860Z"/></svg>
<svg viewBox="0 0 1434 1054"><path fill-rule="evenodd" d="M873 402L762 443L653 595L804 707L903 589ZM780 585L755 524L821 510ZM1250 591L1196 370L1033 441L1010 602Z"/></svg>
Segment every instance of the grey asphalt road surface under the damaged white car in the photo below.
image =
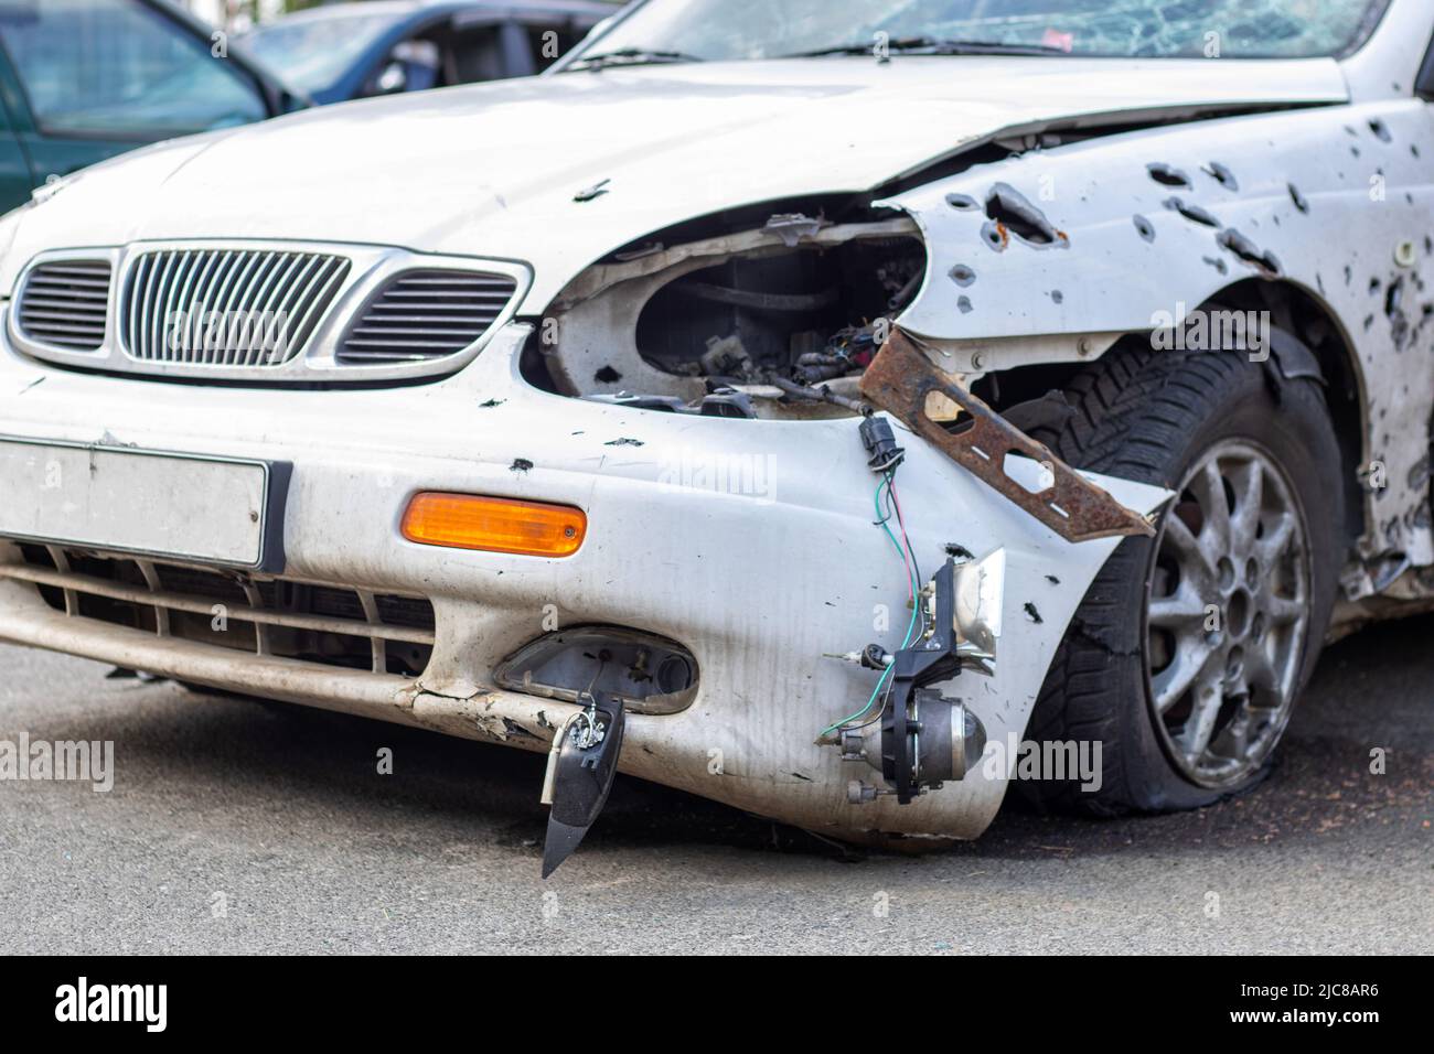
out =
<svg viewBox="0 0 1434 1054"><path fill-rule="evenodd" d="M0 740L116 744L110 793L0 782L0 952L1430 954L1431 640L1329 650L1273 776L1197 813L1008 802L908 858L619 777L546 885L541 757L0 647Z"/></svg>

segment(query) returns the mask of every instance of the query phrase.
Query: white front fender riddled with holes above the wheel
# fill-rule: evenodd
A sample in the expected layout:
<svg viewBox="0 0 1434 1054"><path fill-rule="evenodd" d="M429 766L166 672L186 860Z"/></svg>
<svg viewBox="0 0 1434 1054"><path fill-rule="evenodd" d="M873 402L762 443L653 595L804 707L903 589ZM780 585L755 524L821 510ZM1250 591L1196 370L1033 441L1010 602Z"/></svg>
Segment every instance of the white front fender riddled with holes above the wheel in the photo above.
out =
<svg viewBox="0 0 1434 1054"><path fill-rule="evenodd" d="M1417 467L1434 416L1434 241L1411 231L1434 211L1431 151L1427 103L1401 99L974 166L876 202L915 218L931 255L896 323L952 370L982 373L995 369L992 348L998 369L1053 361L1051 341L1179 326L1236 283L1286 283L1326 308L1352 353L1361 463L1384 480L1365 490L1359 555L1427 566L1434 532ZM992 214L1024 217L1024 237Z"/></svg>

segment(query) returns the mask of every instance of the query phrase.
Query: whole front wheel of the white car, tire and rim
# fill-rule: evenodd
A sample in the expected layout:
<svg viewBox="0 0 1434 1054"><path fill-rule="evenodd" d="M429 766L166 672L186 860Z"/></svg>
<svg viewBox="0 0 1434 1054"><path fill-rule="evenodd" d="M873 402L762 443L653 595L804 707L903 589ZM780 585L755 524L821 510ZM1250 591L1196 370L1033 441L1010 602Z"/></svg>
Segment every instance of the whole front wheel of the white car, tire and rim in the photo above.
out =
<svg viewBox="0 0 1434 1054"><path fill-rule="evenodd" d="M1329 622L1344 516L1324 393L1238 353L1123 346L1065 394L1076 413L1043 442L1176 498L1096 578L1031 716L1034 740L1101 744L1098 789L1022 786L1103 815L1209 804L1263 779Z"/></svg>

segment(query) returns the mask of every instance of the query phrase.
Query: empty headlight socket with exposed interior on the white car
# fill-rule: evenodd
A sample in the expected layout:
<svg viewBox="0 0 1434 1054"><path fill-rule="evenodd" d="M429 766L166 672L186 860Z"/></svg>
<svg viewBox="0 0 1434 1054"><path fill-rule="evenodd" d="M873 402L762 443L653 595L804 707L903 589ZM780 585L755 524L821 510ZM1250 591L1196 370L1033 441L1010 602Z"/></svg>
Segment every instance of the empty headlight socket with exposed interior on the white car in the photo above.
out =
<svg viewBox="0 0 1434 1054"><path fill-rule="evenodd" d="M609 255L554 301L526 374L576 397L640 393L641 409L704 412L726 387L757 416L858 413L858 379L915 298L926 250L906 217L839 212L710 219Z"/></svg>

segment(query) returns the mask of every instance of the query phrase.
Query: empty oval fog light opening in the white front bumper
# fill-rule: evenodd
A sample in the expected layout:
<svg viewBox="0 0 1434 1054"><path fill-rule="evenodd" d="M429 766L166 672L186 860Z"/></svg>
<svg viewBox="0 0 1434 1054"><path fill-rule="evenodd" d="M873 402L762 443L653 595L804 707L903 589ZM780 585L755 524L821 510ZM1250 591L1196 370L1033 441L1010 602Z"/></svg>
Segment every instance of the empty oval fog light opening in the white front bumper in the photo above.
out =
<svg viewBox="0 0 1434 1054"><path fill-rule="evenodd" d="M681 644L618 627L576 627L525 644L498 685L566 703L607 693L638 714L675 714L697 698L697 660Z"/></svg>

